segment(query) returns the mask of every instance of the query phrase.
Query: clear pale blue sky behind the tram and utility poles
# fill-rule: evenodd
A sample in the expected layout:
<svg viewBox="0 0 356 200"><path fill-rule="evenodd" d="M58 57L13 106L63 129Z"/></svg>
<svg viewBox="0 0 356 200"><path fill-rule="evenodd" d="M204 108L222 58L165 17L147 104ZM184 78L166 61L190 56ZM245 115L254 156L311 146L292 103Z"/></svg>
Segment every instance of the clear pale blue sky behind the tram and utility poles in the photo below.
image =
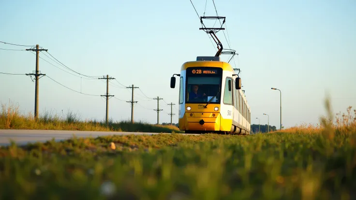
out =
<svg viewBox="0 0 356 200"><path fill-rule="evenodd" d="M216 16L212 0L192 0L199 15ZM356 108L355 0L215 0L226 17L218 32L224 48L238 56L230 64L241 70L242 88L251 107L252 124L279 128L282 124L319 123L329 94L334 113ZM205 5L206 9L205 9ZM190 0L53 0L0 1L0 41L39 44L70 69L110 80L109 118L130 120L134 89L134 121L178 123L178 85L170 77L186 61L213 56L216 47L201 27ZM209 21L211 24L215 21ZM211 24L212 25L212 24ZM217 26L216 26L217 27ZM227 40L225 39L225 36ZM229 43L227 42L229 41ZM30 47L0 43L0 48ZM68 111L82 119L105 119L106 83L69 74L41 52L39 112L59 116ZM53 59L53 58L52 58ZM226 55L222 56L228 60ZM0 72L32 73L36 57L30 51L0 50ZM55 67L56 66L56 67ZM75 74L73 71L69 71ZM74 92L58 83L78 92ZM82 77L82 78L81 78ZM0 101L14 103L23 114L34 112L35 83L30 76L0 74ZM88 96L81 94L98 96ZM259 118L259 119L256 119Z"/></svg>

